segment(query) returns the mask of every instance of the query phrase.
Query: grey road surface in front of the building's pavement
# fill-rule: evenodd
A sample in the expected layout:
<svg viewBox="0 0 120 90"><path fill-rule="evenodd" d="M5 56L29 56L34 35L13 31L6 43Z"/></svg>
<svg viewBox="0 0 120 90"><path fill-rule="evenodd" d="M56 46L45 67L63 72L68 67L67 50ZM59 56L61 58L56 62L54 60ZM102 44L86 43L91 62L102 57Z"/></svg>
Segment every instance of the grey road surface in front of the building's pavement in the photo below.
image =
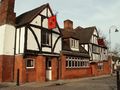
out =
<svg viewBox="0 0 120 90"><path fill-rule="evenodd" d="M78 79L60 85L39 86L39 84L36 84L36 86L32 84L21 86L0 85L0 90L117 90L115 76Z"/></svg>

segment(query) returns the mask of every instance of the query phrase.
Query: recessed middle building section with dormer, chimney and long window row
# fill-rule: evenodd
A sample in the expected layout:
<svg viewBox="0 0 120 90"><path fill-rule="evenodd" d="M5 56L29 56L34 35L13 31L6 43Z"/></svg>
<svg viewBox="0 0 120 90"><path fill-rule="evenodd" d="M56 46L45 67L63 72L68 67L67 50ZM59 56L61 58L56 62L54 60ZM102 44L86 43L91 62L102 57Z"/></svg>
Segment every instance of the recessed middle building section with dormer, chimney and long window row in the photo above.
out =
<svg viewBox="0 0 120 90"><path fill-rule="evenodd" d="M88 52L79 44L78 33L73 29L71 20L64 21L64 29L61 30L61 79L80 78L91 76Z"/></svg>

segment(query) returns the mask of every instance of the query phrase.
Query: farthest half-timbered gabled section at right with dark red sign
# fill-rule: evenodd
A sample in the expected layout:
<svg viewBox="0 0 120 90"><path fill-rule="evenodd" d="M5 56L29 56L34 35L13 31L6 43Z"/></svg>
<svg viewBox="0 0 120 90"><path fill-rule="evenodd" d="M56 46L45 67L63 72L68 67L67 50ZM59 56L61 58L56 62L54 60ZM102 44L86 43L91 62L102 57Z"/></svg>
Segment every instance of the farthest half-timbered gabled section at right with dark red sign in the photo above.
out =
<svg viewBox="0 0 120 90"><path fill-rule="evenodd" d="M90 55L92 75L104 75L111 72L111 60L108 59L108 49L103 38L99 37L96 27L77 27L80 36L80 45Z"/></svg>

